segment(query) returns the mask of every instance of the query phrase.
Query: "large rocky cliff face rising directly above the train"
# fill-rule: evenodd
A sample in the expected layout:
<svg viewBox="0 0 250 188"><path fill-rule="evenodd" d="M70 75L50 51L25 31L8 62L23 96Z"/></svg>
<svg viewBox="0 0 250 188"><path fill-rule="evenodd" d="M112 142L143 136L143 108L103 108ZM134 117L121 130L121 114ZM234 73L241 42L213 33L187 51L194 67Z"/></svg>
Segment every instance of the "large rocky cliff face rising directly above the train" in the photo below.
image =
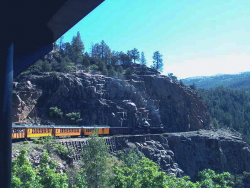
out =
<svg viewBox="0 0 250 188"><path fill-rule="evenodd" d="M210 123L195 91L169 77L153 74L129 80L103 75L21 76L14 91L13 121L67 124L48 117L50 107L80 112L82 125L164 126L167 131L198 130ZM36 117L36 118L35 118Z"/></svg>

